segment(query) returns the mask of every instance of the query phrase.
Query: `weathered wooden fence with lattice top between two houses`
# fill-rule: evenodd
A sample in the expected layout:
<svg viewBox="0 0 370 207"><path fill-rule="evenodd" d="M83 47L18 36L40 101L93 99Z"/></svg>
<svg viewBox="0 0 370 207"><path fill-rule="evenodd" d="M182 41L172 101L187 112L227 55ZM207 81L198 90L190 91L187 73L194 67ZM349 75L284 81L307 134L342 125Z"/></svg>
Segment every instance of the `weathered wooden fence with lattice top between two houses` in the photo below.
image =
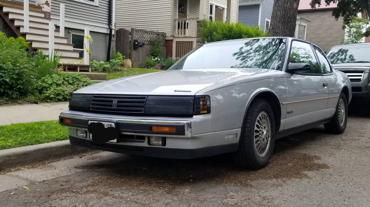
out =
<svg viewBox="0 0 370 207"><path fill-rule="evenodd" d="M144 43L143 47L134 49L134 40ZM166 57L166 33L139 30L131 28L131 31L119 29L116 31L116 50L120 51L132 62L132 67L139 67L139 62L144 61L150 54L153 45L159 42L162 58Z"/></svg>

